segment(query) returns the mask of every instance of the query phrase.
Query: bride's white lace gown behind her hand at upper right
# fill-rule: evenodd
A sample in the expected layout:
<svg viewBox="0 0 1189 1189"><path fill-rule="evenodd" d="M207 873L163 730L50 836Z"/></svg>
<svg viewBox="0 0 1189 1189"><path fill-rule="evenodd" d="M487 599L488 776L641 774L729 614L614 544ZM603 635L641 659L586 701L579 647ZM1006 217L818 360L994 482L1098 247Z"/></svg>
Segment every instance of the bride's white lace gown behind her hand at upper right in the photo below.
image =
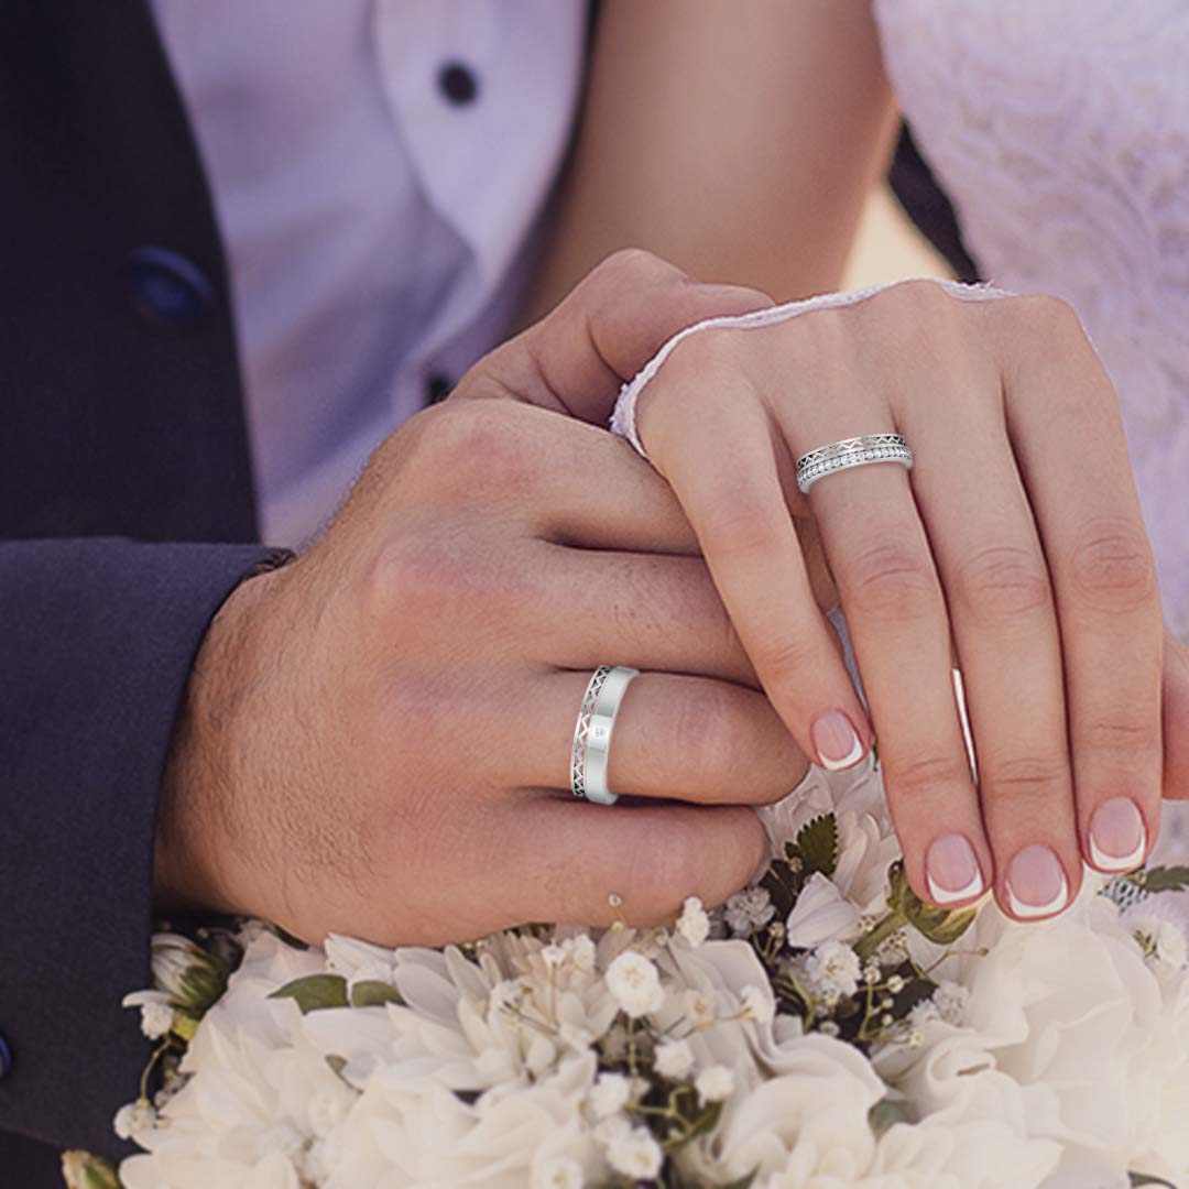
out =
<svg viewBox="0 0 1189 1189"><path fill-rule="evenodd" d="M1070 301L1114 380L1165 619L1189 642L1189 2L874 6L983 275ZM1189 862L1189 803L1165 803L1158 857Z"/></svg>

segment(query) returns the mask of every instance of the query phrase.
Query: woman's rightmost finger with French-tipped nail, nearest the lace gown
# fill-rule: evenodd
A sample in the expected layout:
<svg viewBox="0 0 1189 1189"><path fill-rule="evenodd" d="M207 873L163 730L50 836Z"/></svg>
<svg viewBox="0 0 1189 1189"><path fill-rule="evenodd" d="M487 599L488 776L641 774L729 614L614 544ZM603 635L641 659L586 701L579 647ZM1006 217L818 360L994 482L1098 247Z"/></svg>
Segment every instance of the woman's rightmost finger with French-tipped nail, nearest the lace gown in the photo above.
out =
<svg viewBox="0 0 1189 1189"><path fill-rule="evenodd" d="M1086 861L1139 866L1162 786L1164 621L1114 389L1077 315L1000 303L1007 427L1052 574ZM1011 307L1014 306L1014 309ZM1011 353L1007 336L1009 335Z"/></svg>

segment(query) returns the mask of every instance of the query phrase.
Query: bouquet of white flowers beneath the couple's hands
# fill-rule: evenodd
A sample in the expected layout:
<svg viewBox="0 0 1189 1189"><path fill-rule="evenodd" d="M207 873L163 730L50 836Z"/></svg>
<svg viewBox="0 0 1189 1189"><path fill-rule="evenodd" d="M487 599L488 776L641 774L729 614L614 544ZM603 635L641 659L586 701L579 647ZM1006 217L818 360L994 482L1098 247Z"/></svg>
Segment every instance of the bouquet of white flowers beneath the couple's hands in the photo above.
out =
<svg viewBox="0 0 1189 1189"><path fill-rule="evenodd" d="M158 936L143 1155L68 1184L1189 1187L1189 868L1017 924L917 899L872 757L762 813L763 877L671 929Z"/></svg>

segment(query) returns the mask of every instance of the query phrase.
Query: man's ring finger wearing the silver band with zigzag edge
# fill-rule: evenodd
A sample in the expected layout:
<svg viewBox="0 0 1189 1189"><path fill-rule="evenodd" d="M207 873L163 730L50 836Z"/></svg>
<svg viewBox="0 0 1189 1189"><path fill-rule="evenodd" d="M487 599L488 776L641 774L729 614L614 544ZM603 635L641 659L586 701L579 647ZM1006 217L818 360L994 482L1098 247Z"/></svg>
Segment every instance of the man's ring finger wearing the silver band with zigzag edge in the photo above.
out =
<svg viewBox="0 0 1189 1189"><path fill-rule="evenodd" d="M591 672L546 675L520 699L507 774L518 786L570 789L571 746ZM755 690L711 678L641 673L611 736L608 785L621 795L760 805L795 788L809 761Z"/></svg>

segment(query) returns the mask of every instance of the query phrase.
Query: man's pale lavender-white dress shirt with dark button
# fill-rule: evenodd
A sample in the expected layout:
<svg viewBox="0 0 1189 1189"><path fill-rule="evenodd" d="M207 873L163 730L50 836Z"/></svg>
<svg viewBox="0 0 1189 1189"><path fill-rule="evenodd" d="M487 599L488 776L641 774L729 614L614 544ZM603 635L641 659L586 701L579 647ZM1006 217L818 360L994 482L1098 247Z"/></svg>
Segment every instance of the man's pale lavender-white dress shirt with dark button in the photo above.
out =
<svg viewBox="0 0 1189 1189"><path fill-rule="evenodd" d="M585 0L153 0L227 252L260 529L297 545L509 329Z"/></svg>

